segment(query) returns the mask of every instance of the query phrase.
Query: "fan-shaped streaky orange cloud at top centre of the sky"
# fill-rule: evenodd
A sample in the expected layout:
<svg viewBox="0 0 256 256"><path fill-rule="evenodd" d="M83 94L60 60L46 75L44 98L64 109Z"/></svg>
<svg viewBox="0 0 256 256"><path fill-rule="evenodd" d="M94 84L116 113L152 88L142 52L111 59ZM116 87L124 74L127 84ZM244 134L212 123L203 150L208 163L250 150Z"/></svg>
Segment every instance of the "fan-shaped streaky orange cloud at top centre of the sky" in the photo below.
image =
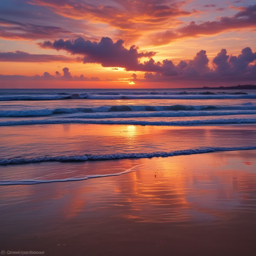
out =
<svg viewBox="0 0 256 256"><path fill-rule="evenodd" d="M185 11L182 6L187 1L174 3L170 0L115 0L105 5L94 1L76 0L33 0L33 4L50 8L55 13L91 23L108 24L117 29L116 36L122 35L126 43L131 43L149 31L162 31L180 24L179 17L200 13Z"/></svg>

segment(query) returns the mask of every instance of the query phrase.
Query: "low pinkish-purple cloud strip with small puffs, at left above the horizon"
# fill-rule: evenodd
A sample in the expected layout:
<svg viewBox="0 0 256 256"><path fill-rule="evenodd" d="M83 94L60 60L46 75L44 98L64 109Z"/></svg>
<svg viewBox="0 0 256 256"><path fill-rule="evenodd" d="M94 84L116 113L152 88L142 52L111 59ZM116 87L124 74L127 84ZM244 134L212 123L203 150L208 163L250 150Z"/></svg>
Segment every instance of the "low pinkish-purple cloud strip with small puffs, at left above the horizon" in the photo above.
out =
<svg viewBox="0 0 256 256"><path fill-rule="evenodd" d="M72 76L69 72L69 68L65 67L62 69L63 75L61 75L58 71L55 72L55 75L51 75L48 72L44 72L42 76L22 76L22 75L0 75L0 80L8 80L8 81L100 81L98 77L87 78L84 75L80 76Z"/></svg>

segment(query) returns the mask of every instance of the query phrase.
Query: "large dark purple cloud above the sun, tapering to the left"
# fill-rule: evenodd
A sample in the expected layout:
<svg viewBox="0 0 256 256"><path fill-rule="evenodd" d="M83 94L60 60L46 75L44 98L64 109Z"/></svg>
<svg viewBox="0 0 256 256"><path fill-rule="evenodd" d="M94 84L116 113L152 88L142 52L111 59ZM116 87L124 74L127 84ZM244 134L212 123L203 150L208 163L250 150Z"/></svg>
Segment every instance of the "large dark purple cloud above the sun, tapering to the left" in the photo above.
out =
<svg viewBox="0 0 256 256"><path fill-rule="evenodd" d="M114 43L108 37L103 37L99 43L84 40L82 37L74 41L60 39L39 43L42 48L65 50L73 55L83 56L84 63L99 63L103 67L122 67L126 70L141 68L144 71L147 65L150 66L150 63L140 64L139 59L150 58L156 54L155 52L138 52L134 45L126 49L123 44L123 40Z"/></svg>

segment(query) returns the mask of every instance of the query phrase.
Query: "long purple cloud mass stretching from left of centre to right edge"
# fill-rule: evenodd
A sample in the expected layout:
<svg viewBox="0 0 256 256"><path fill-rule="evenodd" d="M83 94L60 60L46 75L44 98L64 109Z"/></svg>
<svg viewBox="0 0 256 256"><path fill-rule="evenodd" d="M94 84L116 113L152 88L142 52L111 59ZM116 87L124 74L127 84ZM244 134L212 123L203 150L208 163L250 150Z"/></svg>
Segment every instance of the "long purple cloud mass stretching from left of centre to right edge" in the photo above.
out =
<svg viewBox="0 0 256 256"><path fill-rule="evenodd" d="M84 63L99 63L103 67L121 67L127 71L146 72L146 79L159 79L168 77L185 78L216 78L221 76L254 77L253 62L256 60L256 53L251 48L244 48L239 56L229 56L227 51L222 49L213 59L214 69L209 68L209 59L206 51L199 51L193 60L180 61L174 65L171 60L156 62L151 56L155 52L138 52L135 46L126 49L124 41L118 40L115 43L110 38L102 38L99 43L85 41L78 38L75 41L63 40L39 44L43 48L65 50L74 55L84 56ZM148 61L140 62L142 57L149 58Z"/></svg>

